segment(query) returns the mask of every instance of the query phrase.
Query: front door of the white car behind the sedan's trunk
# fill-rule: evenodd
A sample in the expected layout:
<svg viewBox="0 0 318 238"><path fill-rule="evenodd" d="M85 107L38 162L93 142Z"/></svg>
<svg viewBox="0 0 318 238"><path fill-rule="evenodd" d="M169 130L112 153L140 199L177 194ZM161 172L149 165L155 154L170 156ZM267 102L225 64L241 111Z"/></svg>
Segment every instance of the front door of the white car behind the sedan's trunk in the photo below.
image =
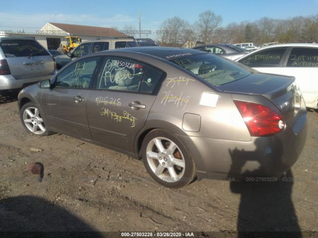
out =
<svg viewBox="0 0 318 238"><path fill-rule="evenodd" d="M257 51L239 60L240 63L264 73L281 74L281 65L288 47Z"/></svg>

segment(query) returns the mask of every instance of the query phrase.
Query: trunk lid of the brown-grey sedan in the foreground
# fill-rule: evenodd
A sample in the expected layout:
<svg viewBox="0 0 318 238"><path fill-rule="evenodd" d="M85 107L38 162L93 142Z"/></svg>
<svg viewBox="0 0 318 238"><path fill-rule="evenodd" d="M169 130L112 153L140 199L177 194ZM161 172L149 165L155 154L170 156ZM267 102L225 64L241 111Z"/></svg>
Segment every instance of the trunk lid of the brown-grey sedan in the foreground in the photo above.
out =
<svg viewBox="0 0 318 238"><path fill-rule="evenodd" d="M261 95L271 101L293 125L303 103L295 77L277 74L253 73L239 80L218 86L224 92Z"/></svg>

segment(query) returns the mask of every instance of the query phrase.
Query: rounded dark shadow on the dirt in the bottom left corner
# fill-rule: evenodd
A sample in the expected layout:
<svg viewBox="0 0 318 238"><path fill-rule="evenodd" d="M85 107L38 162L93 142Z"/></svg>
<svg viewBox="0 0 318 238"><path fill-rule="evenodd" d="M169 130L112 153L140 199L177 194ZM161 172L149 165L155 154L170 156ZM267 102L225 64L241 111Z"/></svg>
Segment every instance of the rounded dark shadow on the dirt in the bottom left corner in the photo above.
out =
<svg viewBox="0 0 318 238"><path fill-rule="evenodd" d="M35 196L0 200L0 237L102 237L63 207Z"/></svg>

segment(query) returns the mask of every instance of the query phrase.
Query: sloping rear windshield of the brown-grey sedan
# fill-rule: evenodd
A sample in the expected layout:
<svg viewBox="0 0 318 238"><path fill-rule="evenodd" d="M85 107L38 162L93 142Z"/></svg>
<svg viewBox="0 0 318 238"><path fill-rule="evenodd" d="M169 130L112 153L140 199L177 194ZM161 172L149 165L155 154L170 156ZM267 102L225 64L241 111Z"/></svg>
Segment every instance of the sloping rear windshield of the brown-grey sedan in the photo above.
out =
<svg viewBox="0 0 318 238"><path fill-rule="evenodd" d="M233 82L251 73L247 68L211 54L188 56L170 61L198 75L213 86Z"/></svg>

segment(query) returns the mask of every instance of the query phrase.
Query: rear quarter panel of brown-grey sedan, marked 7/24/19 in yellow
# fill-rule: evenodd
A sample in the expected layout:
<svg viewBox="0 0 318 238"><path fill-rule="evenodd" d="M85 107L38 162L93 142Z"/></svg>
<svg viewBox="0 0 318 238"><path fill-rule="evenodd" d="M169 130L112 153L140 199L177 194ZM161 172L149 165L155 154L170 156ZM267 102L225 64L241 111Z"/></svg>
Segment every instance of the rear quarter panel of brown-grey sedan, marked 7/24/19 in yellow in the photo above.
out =
<svg viewBox="0 0 318 238"><path fill-rule="evenodd" d="M195 159L198 171L205 170L205 162L201 157L202 153L198 150L195 138L251 140L231 93L219 92L205 85L195 76L173 66L166 65L165 71L167 77L149 112L145 127L137 135L137 138L148 129L163 128L170 131L186 144ZM215 107L200 104L203 93L213 93L219 96ZM199 131L184 129L185 114L200 116ZM183 140L184 136L189 138L186 142Z"/></svg>

